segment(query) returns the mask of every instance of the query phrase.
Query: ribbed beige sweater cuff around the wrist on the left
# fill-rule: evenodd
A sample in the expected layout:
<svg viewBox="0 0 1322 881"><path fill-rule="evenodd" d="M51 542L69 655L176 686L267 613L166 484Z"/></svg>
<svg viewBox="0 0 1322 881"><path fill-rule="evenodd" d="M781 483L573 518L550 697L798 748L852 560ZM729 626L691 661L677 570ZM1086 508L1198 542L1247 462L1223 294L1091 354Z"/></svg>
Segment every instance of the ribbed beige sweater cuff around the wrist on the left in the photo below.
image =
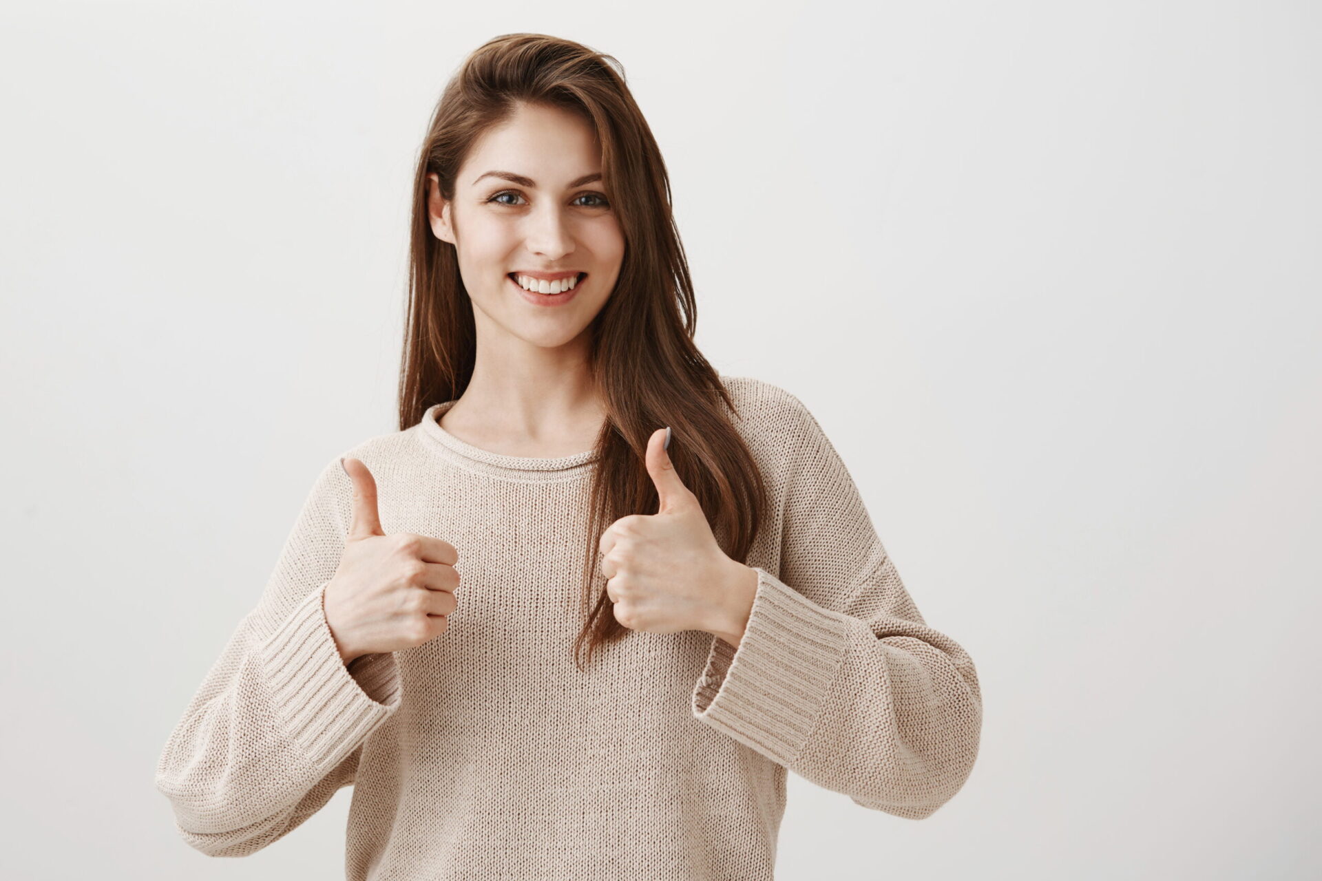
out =
<svg viewBox="0 0 1322 881"><path fill-rule="evenodd" d="M325 584L308 594L258 655L282 728L315 766L329 770L395 712L401 695L394 654L362 658L356 672L366 686L345 667L323 610L324 592Z"/></svg>

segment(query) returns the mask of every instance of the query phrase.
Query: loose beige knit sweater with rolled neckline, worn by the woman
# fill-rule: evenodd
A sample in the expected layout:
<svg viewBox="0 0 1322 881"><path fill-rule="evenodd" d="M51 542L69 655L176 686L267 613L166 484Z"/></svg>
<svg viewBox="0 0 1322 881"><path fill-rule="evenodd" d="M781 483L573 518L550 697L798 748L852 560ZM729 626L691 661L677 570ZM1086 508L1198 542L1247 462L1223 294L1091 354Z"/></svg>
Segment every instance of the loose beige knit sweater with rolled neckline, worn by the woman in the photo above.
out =
<svg viewBox="0 0 1322 881"><path fill-rule="evenodd" d="M448 630L341 662L321 592L352 487L328 462L157 763L182 839L245 856L352 785L350 881L769 880L787 769L932 815L977 757L973 660L923 621L804 404L722 382L771 502L738 650L631 631L579 672L594 453L489 453L447 433L436 404L344 454L371 469L387 534L459 549Z"/></svg>

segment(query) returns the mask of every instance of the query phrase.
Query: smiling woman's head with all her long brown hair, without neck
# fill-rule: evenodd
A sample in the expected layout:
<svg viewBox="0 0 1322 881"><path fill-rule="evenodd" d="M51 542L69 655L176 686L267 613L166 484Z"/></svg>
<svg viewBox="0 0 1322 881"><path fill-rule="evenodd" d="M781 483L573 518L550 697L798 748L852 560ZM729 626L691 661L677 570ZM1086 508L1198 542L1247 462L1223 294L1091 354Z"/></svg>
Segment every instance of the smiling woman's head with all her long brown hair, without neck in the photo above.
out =
<svg viewBox="0 0 1322 881"><path fill-rule="evenodd" d="M657 428L672 427L676 470L726 553L744 560L765 490L730 421L734 404L693 343L697 305L665 162L613 57L514 33L465 58L422 145L410 236L401 429L463 395L479 326L527 345L574 346L591 370L605 421L584 534L591 610L575 652L587 645L591 660L628 633L611 613L598 539L615 519L656 512L642 457ZM529 302L506 277L520 269L587 276L550 306Z"/></svg>

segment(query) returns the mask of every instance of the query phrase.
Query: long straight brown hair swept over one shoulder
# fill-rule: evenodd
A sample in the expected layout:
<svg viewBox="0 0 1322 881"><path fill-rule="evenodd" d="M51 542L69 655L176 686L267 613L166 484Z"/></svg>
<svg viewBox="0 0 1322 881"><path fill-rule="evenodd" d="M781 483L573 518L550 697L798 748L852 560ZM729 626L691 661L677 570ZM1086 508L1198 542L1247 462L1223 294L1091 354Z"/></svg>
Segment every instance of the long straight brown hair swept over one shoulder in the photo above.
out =
<svg viewBox="0 0 1322 881"><path fill-rule="evenodd" d="M624 67L613 55L546 34L502 34L480 46L447 83L432 114L414 178L401 431L418 424L430 405L463 395L477 351L455 246L432 234L427 176L435 173L442 195L452 199L471 147L520 103L580 114L596 129L602 184L625 242L615 291L588 325L588 365L607 417L590 490L586 621L574 641L582 670L584 645L591 662L598 647L628 633L609 609L598 542L616 519L657 510L644 465L652 432L672 427L669 453L677 474L702 503L720 548L740 563L758 534L765 486L722 409L723 400L734 412L734 402L693 343L697 305L670 210L670 181Z"/></svg>

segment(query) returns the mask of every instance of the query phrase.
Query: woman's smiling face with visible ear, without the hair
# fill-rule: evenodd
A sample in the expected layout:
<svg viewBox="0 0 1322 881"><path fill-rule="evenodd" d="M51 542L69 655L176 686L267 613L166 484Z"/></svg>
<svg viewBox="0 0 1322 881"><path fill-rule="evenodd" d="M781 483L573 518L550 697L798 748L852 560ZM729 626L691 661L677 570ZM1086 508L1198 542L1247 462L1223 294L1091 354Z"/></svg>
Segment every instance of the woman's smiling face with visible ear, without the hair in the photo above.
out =
<svg viewBox="0 0 1322 881"><path fill-rule="evenodd" d="M620 275L624 235L600 172L596 133L582 118L520 104L473 145L453 199L440 198L438 177L428 174L431 229L457 251L479 334L563 346L605 305ZM526 292L512 279L566 271L587 273L567 300Z"/></svg>

